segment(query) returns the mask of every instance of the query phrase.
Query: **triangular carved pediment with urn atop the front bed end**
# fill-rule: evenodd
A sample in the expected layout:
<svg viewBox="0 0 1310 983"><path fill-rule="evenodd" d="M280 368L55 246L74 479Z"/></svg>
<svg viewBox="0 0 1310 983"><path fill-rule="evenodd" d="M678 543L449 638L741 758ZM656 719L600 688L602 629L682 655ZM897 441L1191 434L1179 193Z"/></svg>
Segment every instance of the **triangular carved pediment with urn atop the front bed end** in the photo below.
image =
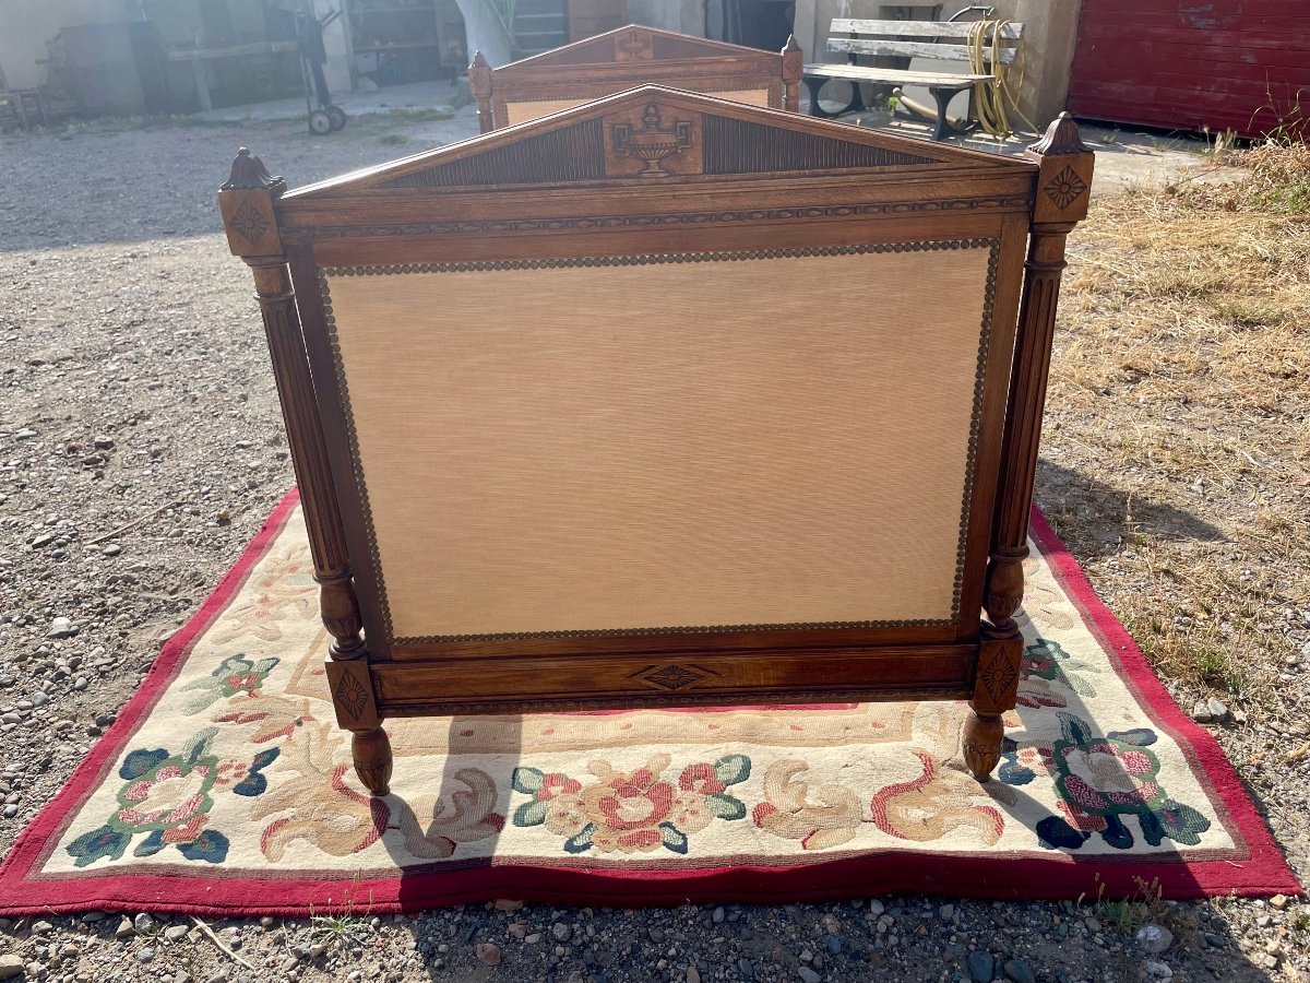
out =
<svg viewBox="0 0 1310 983"><path fill-rule="evenodd" d="M290 197L405 189L703 182L751 176L893 176L1030 163L647 85L383 164Z"/></svg>

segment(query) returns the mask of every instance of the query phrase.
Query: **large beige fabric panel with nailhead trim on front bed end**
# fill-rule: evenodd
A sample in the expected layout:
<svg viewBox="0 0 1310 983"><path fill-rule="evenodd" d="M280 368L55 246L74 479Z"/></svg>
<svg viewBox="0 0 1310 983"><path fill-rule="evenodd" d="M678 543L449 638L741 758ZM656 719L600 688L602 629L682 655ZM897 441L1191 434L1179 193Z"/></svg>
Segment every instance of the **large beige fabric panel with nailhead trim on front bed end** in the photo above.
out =
<svg viewBox="0 0 1310 983"><path fill-rule="evenodd" d="M330 273L394 634L951 619L986 275Z"/></svg>

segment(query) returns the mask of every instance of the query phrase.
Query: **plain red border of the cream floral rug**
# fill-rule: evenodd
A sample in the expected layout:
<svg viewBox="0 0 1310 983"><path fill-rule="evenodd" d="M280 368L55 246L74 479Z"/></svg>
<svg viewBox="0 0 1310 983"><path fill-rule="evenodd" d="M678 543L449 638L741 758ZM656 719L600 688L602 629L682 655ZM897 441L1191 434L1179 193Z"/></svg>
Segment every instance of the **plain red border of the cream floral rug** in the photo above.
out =
<svg viewBox="0 0 1310 983"><path fill-rule="evenodd" d="M1077 560L1032 510L1032 536L1049 561L1079 613L1107 644L1124 678L1137 691L1155 721L1186 747L1229 810L1251 851L1243 862L1200 860L1191 862L1104 862L1094 855L996 858L882 851L862 857L812 862L802 866L723 866L697 870L595 872L532 864L486 864L458 870L438 870L394 877L333 882L322 890L308 878L231 878L206 883L160 876L114 876L29 881L41 862L43 847L58 835L62 819L97 785L102 769L117 759L145 720L157 697L181 667L194 642L228 606L286 526L299 501L295 489L278 503L259 532L246 545L204 604L169 640L118 721L96 744L55 798L18 834L0 864L0 914L37 915L151 910L194 915L304 916L317 911L388 914L417 911L512 896L554 904L638 907L703 902L772 903L872 896L895 891L922 891L990 899L1076 899L1079 895L1132 895L1138 881L1158 878L1170 899L1213 895L1301 894L1297 878L1263 818L1255 809L1214 735L1191 721L1155 678L1127 629L1093 591ZM343 872L345 874L345 872ZM276 898L276 900L270 900ZM12 900L10 900L12 899Z"/></svg>

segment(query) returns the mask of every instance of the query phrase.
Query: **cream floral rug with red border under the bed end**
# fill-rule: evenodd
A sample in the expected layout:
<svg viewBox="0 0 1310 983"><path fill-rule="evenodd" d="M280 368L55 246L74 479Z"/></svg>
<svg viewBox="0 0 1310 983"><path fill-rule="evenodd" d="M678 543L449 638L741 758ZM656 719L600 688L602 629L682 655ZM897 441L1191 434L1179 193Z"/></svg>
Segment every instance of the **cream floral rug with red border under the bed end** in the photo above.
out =
<svg viewBox="0 0 1310 983"><path fill-rule="evenodd" d="M350 767L295 495L0 868L0 914L1298 893L1188 721L1034 514L1019 708L985 786L964 706L388 721Z"/></svg>

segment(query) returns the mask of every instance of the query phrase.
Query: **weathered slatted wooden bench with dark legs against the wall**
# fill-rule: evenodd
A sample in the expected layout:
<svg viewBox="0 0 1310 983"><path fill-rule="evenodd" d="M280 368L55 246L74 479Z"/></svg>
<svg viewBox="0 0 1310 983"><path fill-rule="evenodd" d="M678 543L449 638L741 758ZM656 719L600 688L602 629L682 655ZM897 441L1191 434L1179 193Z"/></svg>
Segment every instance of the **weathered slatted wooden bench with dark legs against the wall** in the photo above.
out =
<svg viewBox="0 0 1310 983"><path fill-rule="evenodd" d="M892 55L897 58L933 58L947 62L969 60L967 39L973 30L973 22L946 21L867 21L845 17L834 18L828 38L828 50L845 52L846 64L807 64L804 84L810 90L810 113L816 117L836 117L854 113L865 107L859 83L882 83L887 85L922 85L937 101L937 125L933 139L941 140L952 130L946 115L946 107L959 92L972 90L980 83L990 83L994 75L971 75L955 72L912 72L901 68L880 68L857 64L859 55ZM846 37L840 37L845 34ZM876 35L876 37L861 37ZM1009 22L1001 31L1002 46L1000 62L1013 64L1017 46L1023 37L1023 25ZM908 41L907 38L917 38ZM925 39L926 38L926 39ZM946 39L947 43L943 43ZM984 45L985 59L992 58L990 37ZM824 83L838 79L850 83L850 102L837 113L825 113L819 105L819 90Z"/></svg>

